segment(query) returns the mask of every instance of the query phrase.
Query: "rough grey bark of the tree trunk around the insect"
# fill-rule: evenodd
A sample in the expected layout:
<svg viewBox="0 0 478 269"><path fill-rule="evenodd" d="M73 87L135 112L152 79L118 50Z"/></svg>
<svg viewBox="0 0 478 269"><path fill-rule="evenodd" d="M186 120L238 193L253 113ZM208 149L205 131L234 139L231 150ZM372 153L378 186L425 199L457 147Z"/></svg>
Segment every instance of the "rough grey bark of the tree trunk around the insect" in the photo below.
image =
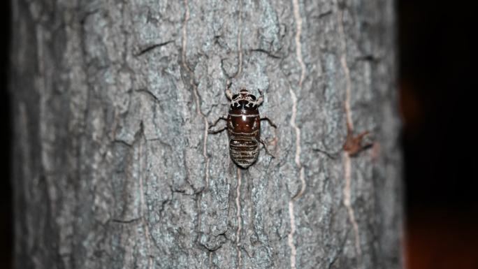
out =
<svg viewBox="0 0 478 269"><path fill-rule="evenodd" d="M386 0L13 1L16 268L401 268L394 20ZM207 133L228 81L278 126L248 170ZM374 145L350 156L347 129Z"/></svg>

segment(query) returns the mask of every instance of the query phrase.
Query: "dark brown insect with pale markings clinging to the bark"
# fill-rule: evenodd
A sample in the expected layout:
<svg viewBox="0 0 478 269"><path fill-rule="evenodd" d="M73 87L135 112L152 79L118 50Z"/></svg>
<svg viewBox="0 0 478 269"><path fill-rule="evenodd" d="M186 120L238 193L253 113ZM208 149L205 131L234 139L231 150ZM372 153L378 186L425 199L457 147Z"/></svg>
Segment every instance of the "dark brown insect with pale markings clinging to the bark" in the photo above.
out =
<svg viewBox="0 0 478 269"><path fill-rule="evenodd" d="M257 160L259 156L259 143L261 143L266 152L270 154L266 143L261 140L261 120L267 120L274 128L277 126L268 118L259 116L259 106L263 102L263 94L259 90L259 98L252 95L247 89L240 89L238 94L232 94L231 85L226 89L226 96L231 100L229 114L219 117L210 128L215 126L219 120L226 120L226 126L216 131L210 130L209 133L219 133L227 129L229 135L229 155L238 166L248 168ZM274 157L273 154L270 156Z"/></svg>

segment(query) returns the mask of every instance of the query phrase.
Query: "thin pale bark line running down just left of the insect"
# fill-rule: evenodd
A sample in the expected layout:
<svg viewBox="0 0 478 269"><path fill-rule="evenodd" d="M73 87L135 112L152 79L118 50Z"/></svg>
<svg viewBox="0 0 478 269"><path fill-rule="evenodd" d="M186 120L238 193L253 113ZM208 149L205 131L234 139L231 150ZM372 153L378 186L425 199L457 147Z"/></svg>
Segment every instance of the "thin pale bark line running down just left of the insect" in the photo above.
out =
<svg viewBox="0 0 478 269"><path fill-rule="evenodd" d="M189 0L184 0L184 22L182 24L182 66L189 72L189 84L193 88L194 101L196 103L196 112L203 118L204 122L204 141L203 141L203 157L205 159L205 189L209 188L209 157L208 157L208 118L201 111L201 104L199 102L198 87L194 83L194 72L187 65L186 48L187 48L187 22L189 22Z"/></svg>

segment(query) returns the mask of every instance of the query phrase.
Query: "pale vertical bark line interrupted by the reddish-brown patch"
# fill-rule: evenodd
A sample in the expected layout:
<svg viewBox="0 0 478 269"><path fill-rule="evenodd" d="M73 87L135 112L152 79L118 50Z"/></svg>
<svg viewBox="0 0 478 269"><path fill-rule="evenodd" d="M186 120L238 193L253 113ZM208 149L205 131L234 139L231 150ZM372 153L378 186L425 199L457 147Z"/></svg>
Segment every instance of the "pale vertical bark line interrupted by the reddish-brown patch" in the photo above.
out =
<svg viewBox="0 0 478 269"><path fill-rule="evenodd" d="M343 12L337 2L337 24L338 24L338 32L340 35L340 64L342 65L342 69L345 73L345 116L346 116L346 124L347 124L347 137L353 133L354 130L354 123L352 121L352 109L350 108L350 96L351 96L351 89L352 89L352 80L350 78L350 70L349 66L347 65L347 41L345 39L345 31L344 31L344 24L342 22ZM345 177L345 186L343 189L343 196L344 200L343 203L345 208L347 208L347 214L349 215L349 221L354 228L354 239L355 239L355 250L357 254L357 268L361 268L361 256L362 250L360 245L360 233L359 233L359 224L355 219L355 212L354 208L352 207L351 202L351 183L352 183L352 168L351 168L351 159L350 153L345 151L343 155L343 162L344 162L344 177Z"/></svg>

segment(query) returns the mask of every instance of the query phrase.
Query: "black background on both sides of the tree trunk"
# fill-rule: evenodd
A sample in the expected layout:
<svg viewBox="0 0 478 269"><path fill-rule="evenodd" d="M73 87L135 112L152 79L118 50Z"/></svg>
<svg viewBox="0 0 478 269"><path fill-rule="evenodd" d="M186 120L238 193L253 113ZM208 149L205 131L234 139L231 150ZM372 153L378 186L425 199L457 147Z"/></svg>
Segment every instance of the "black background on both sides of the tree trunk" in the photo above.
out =
<svg viewBox="0 0 478 269"><path fill-rule="evenodd" d="M12 203L8 36L0 1L0 269L10 268ZM475 8L461 1L398 0L400 110L409 269L478 268ZM14 27L13 27L14 28ZM15 89L10 89L14 91Z"/></svg>

